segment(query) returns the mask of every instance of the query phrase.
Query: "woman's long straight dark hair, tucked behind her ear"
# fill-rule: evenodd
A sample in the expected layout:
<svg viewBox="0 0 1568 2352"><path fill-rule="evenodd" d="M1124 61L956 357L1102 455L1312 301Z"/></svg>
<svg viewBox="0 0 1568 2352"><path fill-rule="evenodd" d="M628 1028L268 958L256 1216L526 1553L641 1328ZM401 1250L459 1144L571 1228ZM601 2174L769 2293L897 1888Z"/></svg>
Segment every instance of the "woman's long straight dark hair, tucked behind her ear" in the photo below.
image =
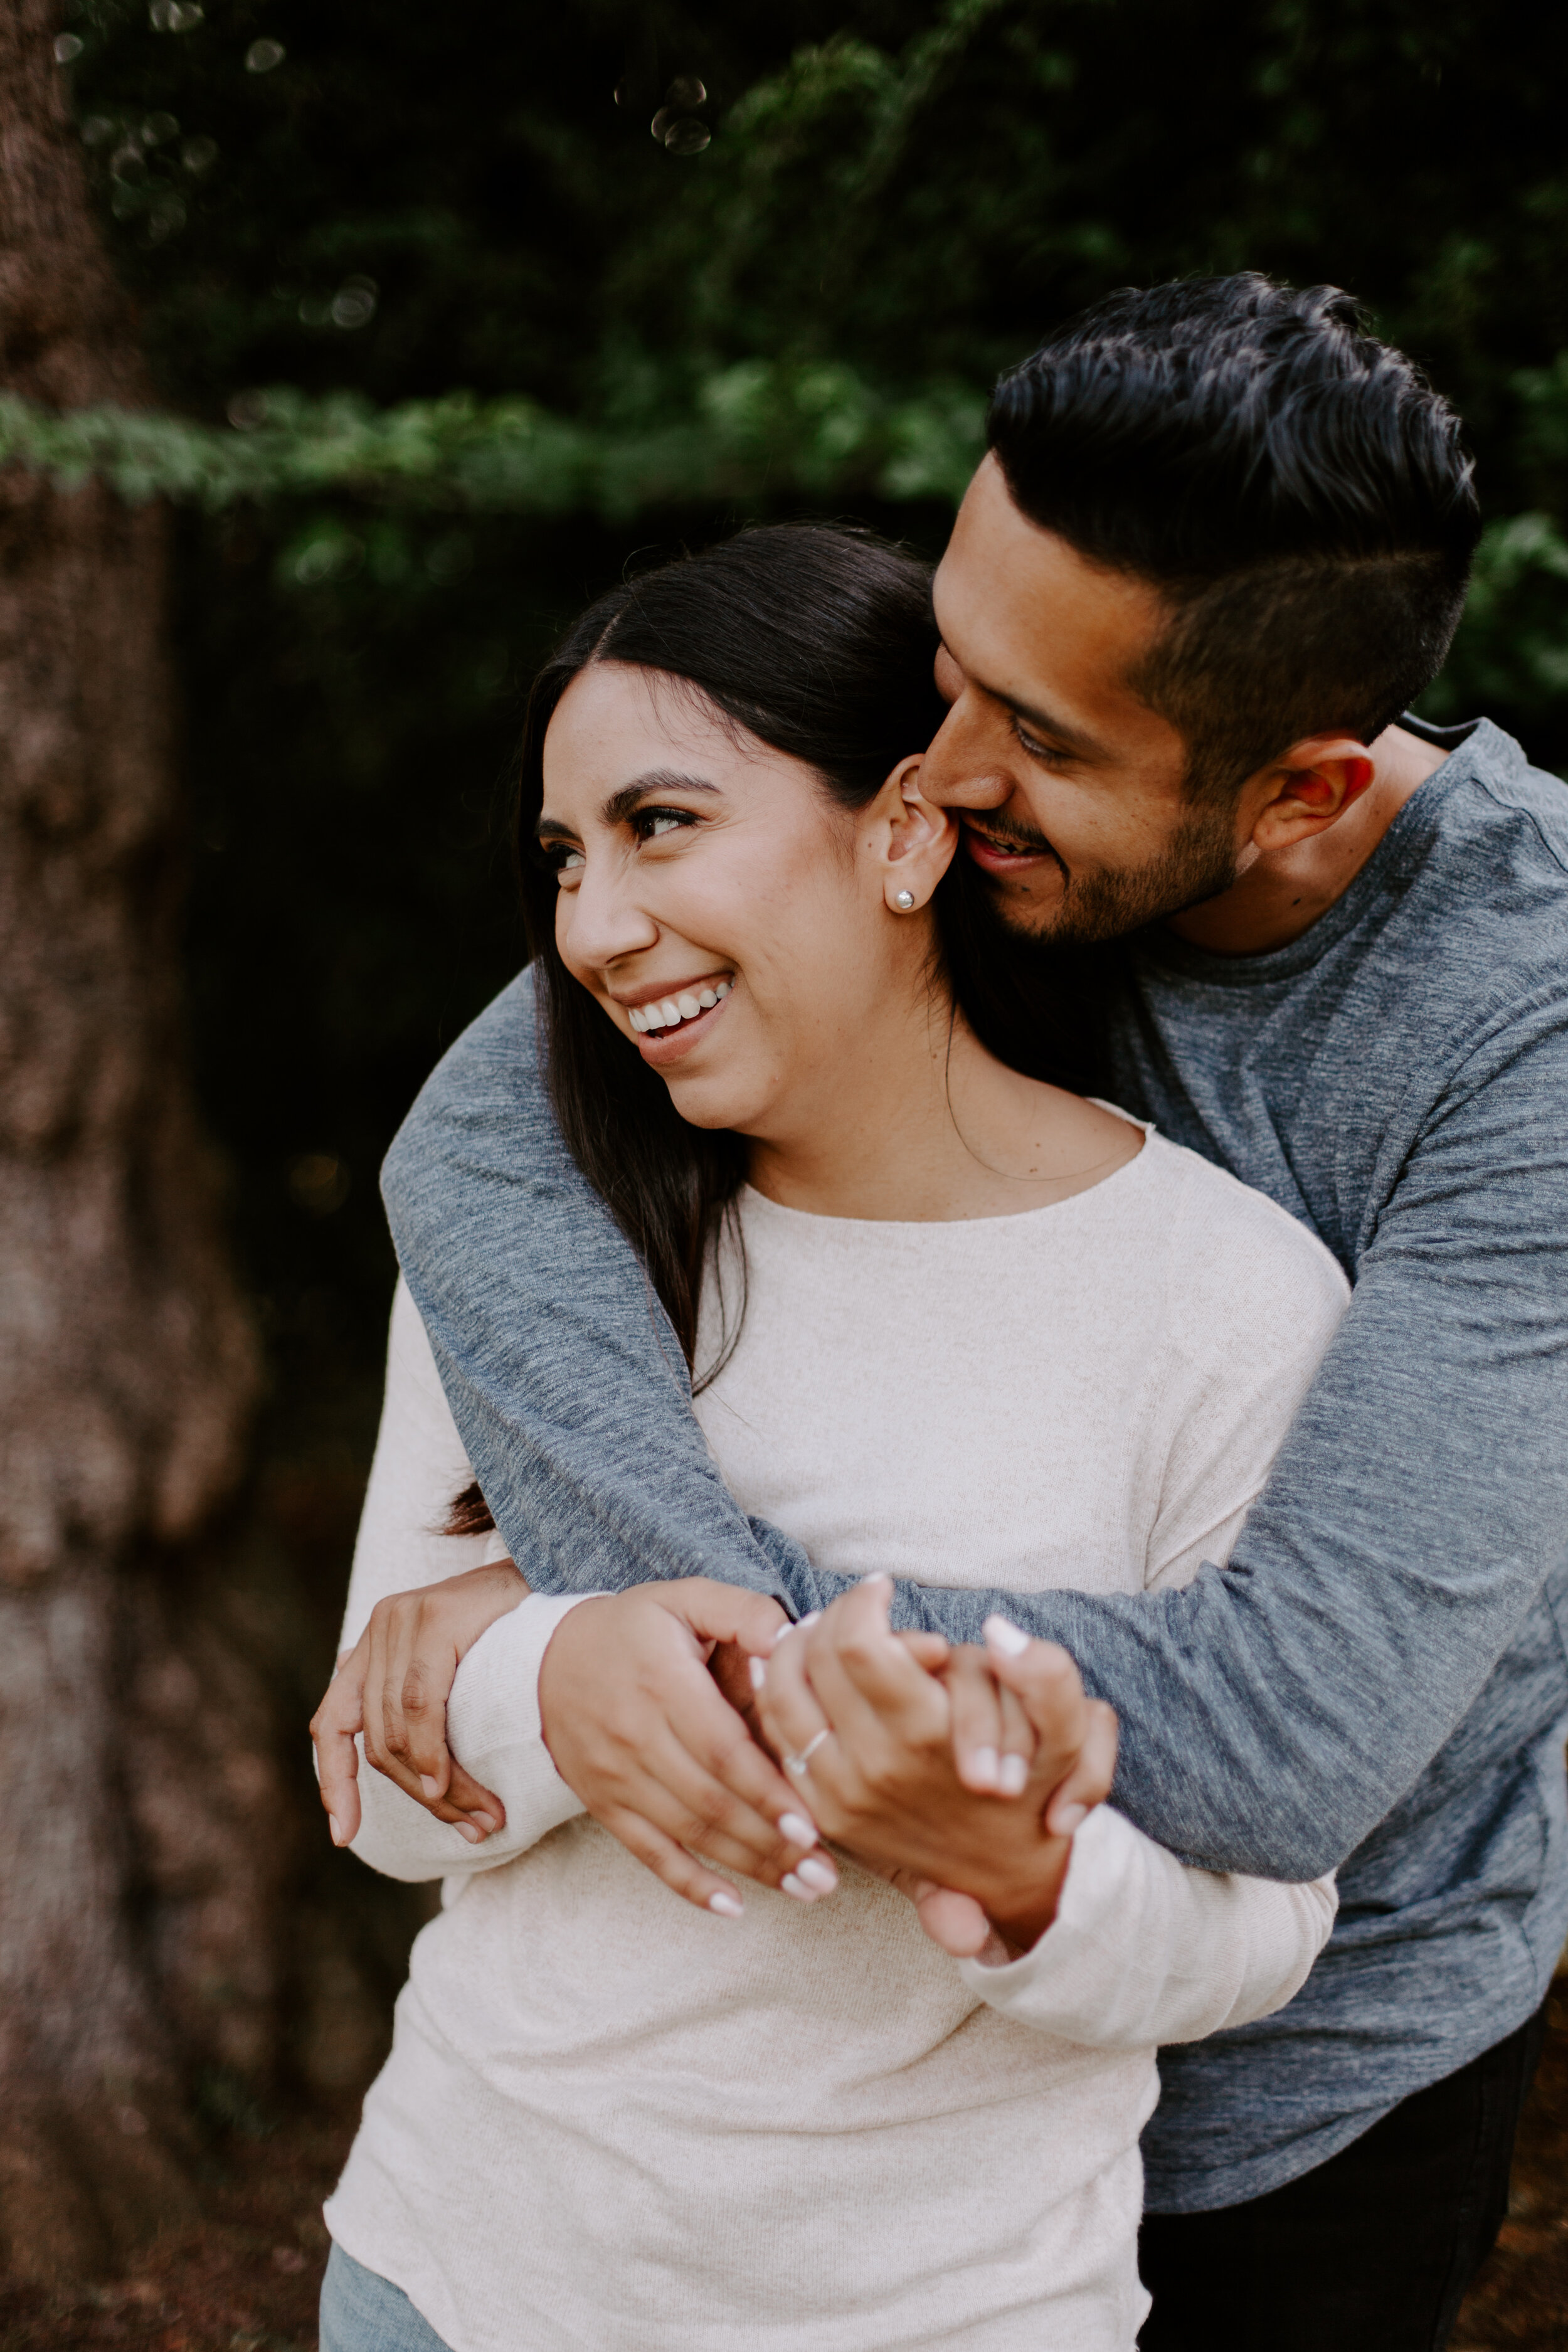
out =
<svg viewBox="0 0 1568 2352"><path fill-rule="evenodd" d="M550 1101L693 1369L703 1263L741 1190L745 1145L724 1129L689 1127L665 1082L559 960L557 880L534 847L545 731L581 670L625 661L686 680L736 727L813 767L837 807L863 809L945 717L936 647L924 562L870 532L783 522L614 588L534 682L515 842ZM1037 990L1001 969L1006 941L969 858L954 858L936 903L954 993L983 1040L1032 1075L1072 1082L1060 1023Z"/></svg>

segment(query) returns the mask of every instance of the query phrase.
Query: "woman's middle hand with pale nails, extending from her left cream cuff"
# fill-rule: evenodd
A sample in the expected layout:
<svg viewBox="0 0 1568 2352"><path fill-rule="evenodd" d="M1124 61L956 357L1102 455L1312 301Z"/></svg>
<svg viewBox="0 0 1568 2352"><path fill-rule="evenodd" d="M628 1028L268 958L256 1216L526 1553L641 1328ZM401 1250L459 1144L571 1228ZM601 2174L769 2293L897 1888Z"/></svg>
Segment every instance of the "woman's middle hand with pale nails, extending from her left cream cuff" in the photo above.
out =
<svg viewBox="0 0 1568 2352"><path fill-rule="evenodd" d="M809 1802L710 1672L750 1700L736 1668L766 1656L783 1623L778 1602L705 1576L632 1585L564 1616L538 1675L567 1788L665 1886L724 1919L741 1898L698 1856L802 1903L837 1886Z"/></svg>

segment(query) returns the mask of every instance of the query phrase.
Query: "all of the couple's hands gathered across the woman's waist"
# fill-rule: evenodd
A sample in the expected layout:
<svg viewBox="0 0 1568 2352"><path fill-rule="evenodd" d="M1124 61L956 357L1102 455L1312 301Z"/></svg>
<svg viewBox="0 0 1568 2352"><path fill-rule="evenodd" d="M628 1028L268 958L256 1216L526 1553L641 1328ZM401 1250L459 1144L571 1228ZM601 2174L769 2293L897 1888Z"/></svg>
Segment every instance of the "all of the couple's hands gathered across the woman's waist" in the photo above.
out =
<svg viewBox="0 0 1568 2352"><path fill-rule="evenodd" d="M501 1799L447 1750L447 1696L527 1590L498 1562L376 1606L310 1724L339 1844L360 1828L355 1733L470 1844L503 1828ZM689 1903L733 1917L733 1877L816 1900L837 1879L832 1839L947 1952L1004 1959L1056 1915L1072 1832L1110 1792L1117 1719L1056 1644L1004 1618L985 1649L891 1632L889 1599L889 1578L867 1578L799 1625L708 1578L585 1599L543 1656L545 1745Z"/></svg>

